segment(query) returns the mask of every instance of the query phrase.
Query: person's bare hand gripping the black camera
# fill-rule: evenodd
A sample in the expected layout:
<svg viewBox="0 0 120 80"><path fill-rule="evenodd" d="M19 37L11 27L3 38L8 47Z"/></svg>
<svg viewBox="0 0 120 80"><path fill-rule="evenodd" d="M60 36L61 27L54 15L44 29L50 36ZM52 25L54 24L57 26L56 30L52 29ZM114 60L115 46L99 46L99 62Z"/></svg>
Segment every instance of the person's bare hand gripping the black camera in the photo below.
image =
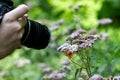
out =
<svg viewBox="0 0 120 80"><path fill-rule="evenodd" d="M0 24L0 59L21 48L20 41L27 22L28 10L29 8L23 4L4 15Z"/></svg>

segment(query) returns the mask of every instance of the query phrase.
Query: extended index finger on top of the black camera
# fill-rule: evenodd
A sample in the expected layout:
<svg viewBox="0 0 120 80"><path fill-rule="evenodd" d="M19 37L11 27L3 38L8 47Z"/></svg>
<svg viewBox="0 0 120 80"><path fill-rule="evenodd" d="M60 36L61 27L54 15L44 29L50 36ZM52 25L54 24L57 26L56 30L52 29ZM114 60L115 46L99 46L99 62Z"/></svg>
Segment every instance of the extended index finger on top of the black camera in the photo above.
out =
<svg viewBox="0 0 120 80"><path fill-rule="evenodd" d="M28 10L29 8L26 5L22 4L12 11L6 13L5 16L7 17L7 20L17 20L18 18L24 16L24 14L28 12Z"/></svg>

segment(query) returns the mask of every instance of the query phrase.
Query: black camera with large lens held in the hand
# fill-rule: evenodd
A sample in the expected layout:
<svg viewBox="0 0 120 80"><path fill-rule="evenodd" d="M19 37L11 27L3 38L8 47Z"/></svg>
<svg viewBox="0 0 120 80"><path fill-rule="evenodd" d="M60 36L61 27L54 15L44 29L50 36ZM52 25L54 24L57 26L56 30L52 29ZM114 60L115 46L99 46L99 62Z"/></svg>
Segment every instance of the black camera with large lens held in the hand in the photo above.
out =
<svg viewBox="0 0 120 80"><path fill-rule="evenodd" d="M13 9L14 6L0 2L0 23L2 22L4 14ZM44 49L47 47L50 40L50 31L47 26L27 19L24 31L25 32L21 39L22 45L34 49Z"/></svg>

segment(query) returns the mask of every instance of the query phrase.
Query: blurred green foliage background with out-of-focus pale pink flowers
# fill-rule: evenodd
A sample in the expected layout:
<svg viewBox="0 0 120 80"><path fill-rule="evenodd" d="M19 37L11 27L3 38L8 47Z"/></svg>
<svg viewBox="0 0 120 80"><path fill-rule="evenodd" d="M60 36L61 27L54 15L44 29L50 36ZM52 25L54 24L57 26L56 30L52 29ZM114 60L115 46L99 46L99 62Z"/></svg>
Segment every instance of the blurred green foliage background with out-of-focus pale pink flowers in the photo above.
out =
<svg viewBox="0 0 120 80"><path fill-rule="evenodd" d="M120 0L14 0L15 6L23 3L30 7L30 19L48 26L51 41L43 50L23 47L2 59L0 80L47 80L63 69L63 80L74 80L74 65L57 48L81 28L103 36L91 51L92 73L120 74Z"/></svg>

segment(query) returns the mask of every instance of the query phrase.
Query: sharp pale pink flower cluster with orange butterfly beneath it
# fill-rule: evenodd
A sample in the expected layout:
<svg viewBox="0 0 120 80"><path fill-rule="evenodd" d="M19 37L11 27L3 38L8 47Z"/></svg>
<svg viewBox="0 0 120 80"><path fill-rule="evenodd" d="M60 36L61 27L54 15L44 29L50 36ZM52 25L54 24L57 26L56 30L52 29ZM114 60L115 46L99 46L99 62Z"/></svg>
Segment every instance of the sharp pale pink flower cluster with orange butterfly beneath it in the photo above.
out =
<svg viewBox="0 0 120 80"><path fill-rule="evenodd" d="M78 50L91 47L93 43L100 39L100 35L84 35L84 30L77 30L73 32L66 40L71 44L64 43L57 50L60 52L77 52Z"/></svg>

